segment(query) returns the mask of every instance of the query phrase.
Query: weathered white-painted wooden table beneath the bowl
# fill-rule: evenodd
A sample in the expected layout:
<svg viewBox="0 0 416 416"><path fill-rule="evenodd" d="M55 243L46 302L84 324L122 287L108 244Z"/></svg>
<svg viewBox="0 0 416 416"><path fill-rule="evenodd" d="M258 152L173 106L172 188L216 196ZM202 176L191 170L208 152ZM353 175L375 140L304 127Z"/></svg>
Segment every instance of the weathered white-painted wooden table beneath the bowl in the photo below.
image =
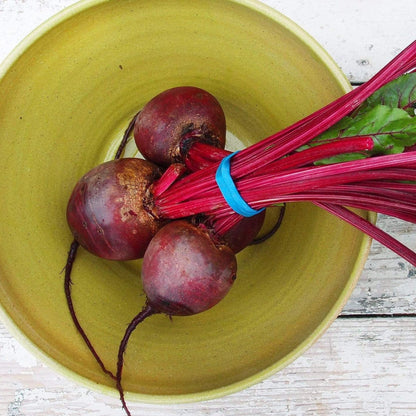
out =
<svg viewBox="0 0 416 416"><path fill-rule="evenodd" d="M0 0L0 60L73 0ZM367 80L416 39L416 0L265 0ZM1 127L0 127L1 128ZM416 227L379 217L416 249ZM416 415L416 269L374 243L341 316L302 357L245 391L174 406L131 403L133 415ZM119 402L39 362L0 323L0 415L123 415Z"/></svg>

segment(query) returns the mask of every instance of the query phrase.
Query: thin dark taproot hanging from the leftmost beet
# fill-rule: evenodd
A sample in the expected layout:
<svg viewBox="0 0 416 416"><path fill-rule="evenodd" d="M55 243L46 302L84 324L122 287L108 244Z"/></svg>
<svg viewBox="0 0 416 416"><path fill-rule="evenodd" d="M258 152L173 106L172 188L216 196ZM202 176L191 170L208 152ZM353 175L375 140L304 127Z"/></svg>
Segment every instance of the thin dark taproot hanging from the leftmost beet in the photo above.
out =
<svg viewBox="0 0 416 416"><path fill-rule="evenodd" d="M104 371L104 373L108 374L111 378L116 379L116 377L114 376L114 374L105 367L105 365L102 362L101 358L98 356L97 352L95 351L94 347L92 346L91 341L89 340L87 334L85 333L85 331L83 330L81 324L78 321L78 317L77 317L77 315L75 313L74 305L72 303L72 296L71 296L71 285L72 285L71 271L72 271L72 266L74 265L75 256L77 254L78 247L79 247L78 241L74 240L72 242L71 246L70 246L70 250L69 250L69 253L68 253L67 262L66 262L66 265L65 265L65 282L64 282L64 287L65 287L65 296L66 296L66 301L67 301L67 304L68 304L69 312L71 314L71 317L72 317L72 320L73 320L73 322L75 324L76 329L78 330L78 332L80 333L80 335L84 339L85 343L87 344L87 347L91 351L92 355L94 356L94 358L96 359L97 363L100 365L100 367L102 368L102 370Z"/></svg>

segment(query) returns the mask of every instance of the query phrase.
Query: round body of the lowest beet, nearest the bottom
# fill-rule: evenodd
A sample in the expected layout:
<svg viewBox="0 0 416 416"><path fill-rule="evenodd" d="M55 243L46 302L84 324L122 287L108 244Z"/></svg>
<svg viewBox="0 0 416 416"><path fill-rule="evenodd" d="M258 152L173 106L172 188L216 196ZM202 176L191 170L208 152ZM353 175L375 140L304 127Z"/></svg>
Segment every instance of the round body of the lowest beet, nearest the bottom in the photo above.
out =
<svg viewBox="0 0 416 416"><path fill-rule="evenodd" d="M192 315L224 298L236 272L236 258L228 246L215 244L205 229L178 220L165 225L150 242L143 258L143 289L155 310Z"/></svg>

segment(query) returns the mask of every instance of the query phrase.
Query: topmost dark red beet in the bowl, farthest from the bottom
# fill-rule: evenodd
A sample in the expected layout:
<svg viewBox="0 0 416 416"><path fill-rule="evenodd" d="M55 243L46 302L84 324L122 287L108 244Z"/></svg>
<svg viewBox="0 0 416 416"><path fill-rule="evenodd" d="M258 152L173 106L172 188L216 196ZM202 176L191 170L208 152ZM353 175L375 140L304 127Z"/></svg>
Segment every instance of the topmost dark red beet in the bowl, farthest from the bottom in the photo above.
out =
<svg viewBox="0 0 416 416"><path fill-rule="evenodd" d="M151 99L134 126L138 149L160 166L182 162L195 141L224 148L225 135L225 115L217 99L191 86L171 88Z"/></svg>

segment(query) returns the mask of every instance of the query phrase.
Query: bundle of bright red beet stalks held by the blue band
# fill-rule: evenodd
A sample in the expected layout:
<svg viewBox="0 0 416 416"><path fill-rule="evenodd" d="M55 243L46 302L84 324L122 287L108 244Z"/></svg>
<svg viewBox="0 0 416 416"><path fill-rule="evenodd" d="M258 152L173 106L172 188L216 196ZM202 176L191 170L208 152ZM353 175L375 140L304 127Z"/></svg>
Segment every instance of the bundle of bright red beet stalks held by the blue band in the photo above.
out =
<svg viewBox="0 0 416 416"><path fill-rule="evenodd" d="M232 158L231 176L242 198L253 209L290 201L311 201L345 219L357 228L362 221L346 215L343 206L383 212L407 221L415 220L415 201L407 198L414 185L403 181L416 179L416 152L371 157L364 160L311 166L330 154L366 152L372 148L371 137L354 137L325 143L293 154L317 135L350 114L381 86L416 66L416 41L387 64L371 80L338 98L310 116L254 144ZM214 159L219 155L214 156ZM204 158L204 157L202 157ZM204 213L216 222L217 230L225 232L239 215L225 201L215 180L219 162L211 161L205 169L184 177L166 188L155 200L155 212L167 218ZM360 183L373 181L377 192L364 195ZM335 186L347 185L342 192ZM392 188L390 186L393 185ZM399 193L392 193L398 186ZM357 187L354 189L354 187ZM393 197L394 195L394 197ZM392 239L385 244L401 255ZM416 254L406 259L416 265Z"/></svg>

